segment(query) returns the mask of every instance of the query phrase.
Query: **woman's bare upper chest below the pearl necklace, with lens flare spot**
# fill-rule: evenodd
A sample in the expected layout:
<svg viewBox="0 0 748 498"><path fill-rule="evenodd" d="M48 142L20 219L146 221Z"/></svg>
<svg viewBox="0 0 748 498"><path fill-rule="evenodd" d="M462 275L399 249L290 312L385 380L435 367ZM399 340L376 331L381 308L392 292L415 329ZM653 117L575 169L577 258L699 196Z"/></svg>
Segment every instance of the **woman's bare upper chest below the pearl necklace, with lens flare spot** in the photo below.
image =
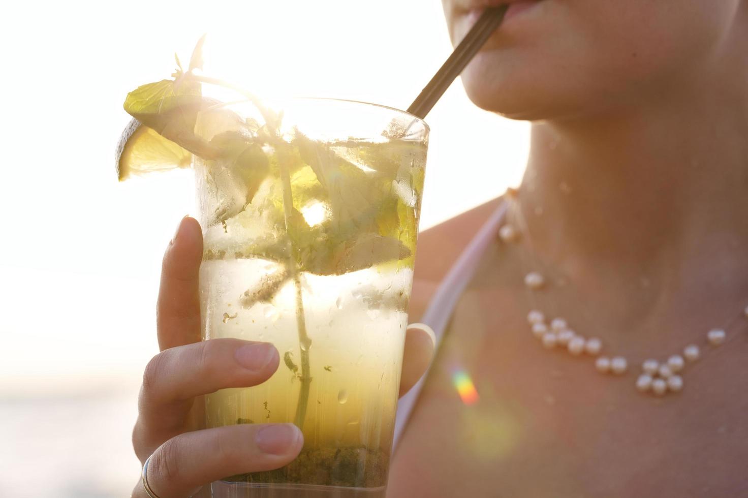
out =
<svg viewBox="0 0 748 498"><path fill-rule="evenodd" d="M739 383L711 384L729 372L702 369L689 390L654 400L634 389L634 372L599 375L592 358L540 347L524 312L501 302L494 292L460 301L393 458L389 497L748 493L745 396L729 396Z"/></svg>

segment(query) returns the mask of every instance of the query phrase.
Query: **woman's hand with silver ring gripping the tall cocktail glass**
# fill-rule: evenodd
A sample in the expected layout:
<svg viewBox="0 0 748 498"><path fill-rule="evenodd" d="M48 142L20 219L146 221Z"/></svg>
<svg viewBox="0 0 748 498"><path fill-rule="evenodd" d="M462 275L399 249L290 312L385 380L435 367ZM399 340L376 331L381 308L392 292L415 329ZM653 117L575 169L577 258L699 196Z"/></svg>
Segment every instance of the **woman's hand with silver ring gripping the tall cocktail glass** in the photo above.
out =
<svg viewBox="0 0 748 498"><path fill-rule="evenodd" d="M278 369L279 356L267 342L200 340L202 254L200 225L183 218L164 255L156 307L161 352L145 369L132 432L141 463L150 456L148 484L159 498L189 497L226 476L283 467L304 444L293 424L204 428L203 395L262 384ZM428 327L408 328L400 396L426 371L433 349ZM140 479L132 497L148 497Z"/></svg>

